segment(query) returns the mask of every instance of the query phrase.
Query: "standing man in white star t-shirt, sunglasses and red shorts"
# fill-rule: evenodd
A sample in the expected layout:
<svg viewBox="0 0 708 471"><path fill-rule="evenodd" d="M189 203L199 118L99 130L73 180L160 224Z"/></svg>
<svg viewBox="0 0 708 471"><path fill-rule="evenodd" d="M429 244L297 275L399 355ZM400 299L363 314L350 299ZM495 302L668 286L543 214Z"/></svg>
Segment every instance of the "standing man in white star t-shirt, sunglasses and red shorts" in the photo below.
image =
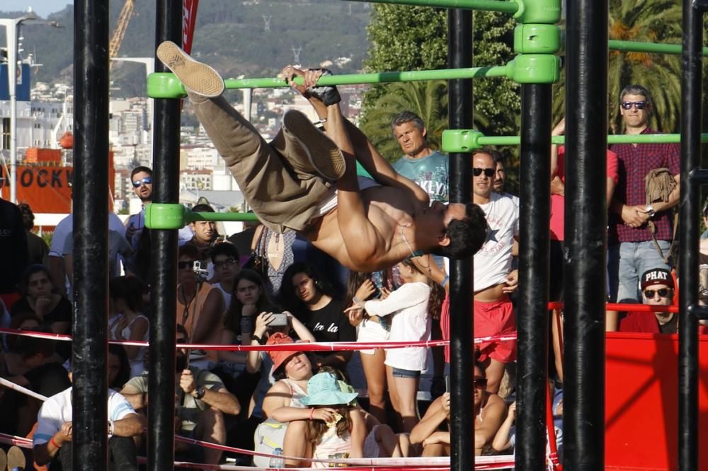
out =
<svg viewBox="0 0 708 471"><path fill-rule="evenodd" d="M482 248L474 255L474 336L510 335L516 319L509 293L515 290L517 270L511 269L514 241L519 233L519 208L510 197L493 192L497 151L472 154L472 202L481 207L489 225ZM498 392L506 364L516 359L516 341L477 344L487 390Z"/></svg>

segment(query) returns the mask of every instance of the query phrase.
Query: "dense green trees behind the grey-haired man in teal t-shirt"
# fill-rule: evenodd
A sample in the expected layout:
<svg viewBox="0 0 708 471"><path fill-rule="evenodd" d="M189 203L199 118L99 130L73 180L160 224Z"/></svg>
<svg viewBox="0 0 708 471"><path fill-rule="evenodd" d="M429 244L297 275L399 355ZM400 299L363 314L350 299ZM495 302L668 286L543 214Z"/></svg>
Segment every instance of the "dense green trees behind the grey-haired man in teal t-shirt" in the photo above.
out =
<svg viewBox="0 0 708 471"><path fill-rule="evenodd" d="M375 4L367 28L366 71L447 68L447 10ZM513 58L515 23L502 13L474 12L474 66L506 64ZM506 79L474 82L474 124L485 134L518 132L518 85ZM430 141L440 142L447 127L447 82L372 86L365 94L362 129L387 158L400 156L392 139L391 119L411 110L426 122Z"/></svg>

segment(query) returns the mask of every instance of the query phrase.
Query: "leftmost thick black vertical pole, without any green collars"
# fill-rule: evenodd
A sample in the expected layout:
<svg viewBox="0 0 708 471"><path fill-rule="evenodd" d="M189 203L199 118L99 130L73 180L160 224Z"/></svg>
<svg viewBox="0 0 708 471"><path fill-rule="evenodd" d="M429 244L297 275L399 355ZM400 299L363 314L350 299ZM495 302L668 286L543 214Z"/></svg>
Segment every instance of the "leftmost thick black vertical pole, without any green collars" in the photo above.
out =
<svg viewBox="0 0 708 471"><path fill-rule="evenodd" d="M74 4L74 470L108 454L108 0Z"/></svg>

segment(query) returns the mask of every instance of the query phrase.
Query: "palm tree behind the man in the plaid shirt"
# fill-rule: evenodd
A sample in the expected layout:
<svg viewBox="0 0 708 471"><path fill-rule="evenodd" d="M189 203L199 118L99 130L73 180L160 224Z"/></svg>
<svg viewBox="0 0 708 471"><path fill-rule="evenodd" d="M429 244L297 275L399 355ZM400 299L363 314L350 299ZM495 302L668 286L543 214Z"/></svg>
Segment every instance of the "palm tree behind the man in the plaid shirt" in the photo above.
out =
<svg viewBox="0 0 708 471"><path fill-rule="evenodd" d="M610 0L609 35L612 40L681 43L681 4L675 0ZM649 126L676 132L680 124L680 56L645 52L610 51L607 94L610 127L622 132L619 92L638 83L652 93ZM564 115L565 73L554 86L554 119Z"/></svg>

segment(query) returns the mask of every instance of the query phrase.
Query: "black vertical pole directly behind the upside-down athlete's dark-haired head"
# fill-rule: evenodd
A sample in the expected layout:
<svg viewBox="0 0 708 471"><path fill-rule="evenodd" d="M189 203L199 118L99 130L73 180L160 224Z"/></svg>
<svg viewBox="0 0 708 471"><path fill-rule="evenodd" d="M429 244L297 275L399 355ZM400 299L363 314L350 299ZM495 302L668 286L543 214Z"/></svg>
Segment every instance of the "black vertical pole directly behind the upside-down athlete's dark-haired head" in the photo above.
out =
<svg viewBox="0 0 708 471"><path fill-rule="evenodd" d="M472 11L447 13L447 62L450 68L472 67ZM472 80L447 85L450 129L472 129ZM469 153L450 153L450 202L472 201ZM452 470L474 469L474 324L472 322L472 258L450 260L450 432Z"/></svg>

